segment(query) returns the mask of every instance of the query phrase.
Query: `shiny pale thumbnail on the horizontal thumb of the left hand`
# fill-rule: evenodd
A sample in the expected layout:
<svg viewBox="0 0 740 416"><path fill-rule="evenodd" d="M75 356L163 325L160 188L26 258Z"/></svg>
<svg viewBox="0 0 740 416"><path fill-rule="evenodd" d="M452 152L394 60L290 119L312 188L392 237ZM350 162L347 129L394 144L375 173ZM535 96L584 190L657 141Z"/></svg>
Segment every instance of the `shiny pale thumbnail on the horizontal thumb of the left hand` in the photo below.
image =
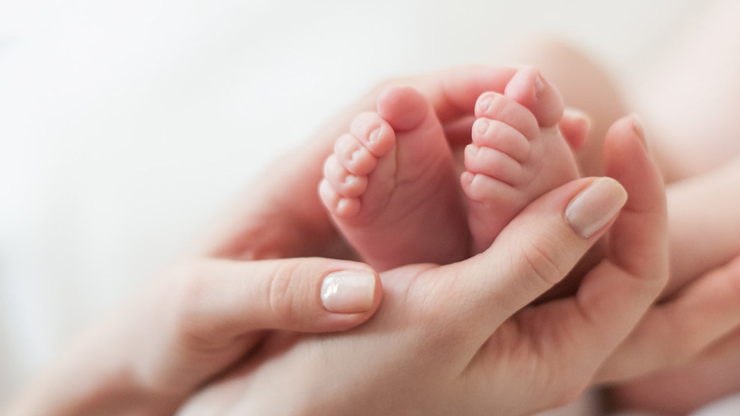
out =
<svg viewBox="0 0 740 416"><path fill-rule="evenodd" d="M332 272L321 284L321 303L330 312L357 313L372 307L375 275L363 270Z"/></svg>

